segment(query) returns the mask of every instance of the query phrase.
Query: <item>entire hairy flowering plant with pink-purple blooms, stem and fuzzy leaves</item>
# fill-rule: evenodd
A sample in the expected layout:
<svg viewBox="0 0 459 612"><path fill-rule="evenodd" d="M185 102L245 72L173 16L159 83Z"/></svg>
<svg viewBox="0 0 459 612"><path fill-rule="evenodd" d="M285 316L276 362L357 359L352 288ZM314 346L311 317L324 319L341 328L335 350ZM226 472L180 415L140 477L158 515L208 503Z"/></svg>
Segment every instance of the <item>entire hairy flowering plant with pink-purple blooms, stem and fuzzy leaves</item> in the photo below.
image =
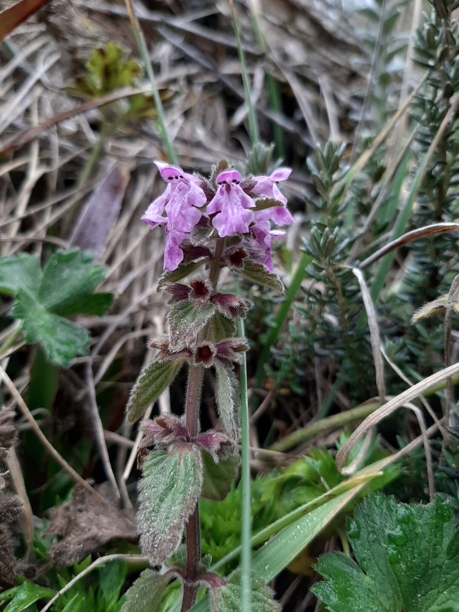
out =
<svg viewBox="0 0 459 612"><path fill-rule="evenodd" d="M225 498L237 476L241 430L237 366L248 342L236 337L235 326L252 303L218 291L218 279L225 269L230 281L236 273L283 291L282 281L273 272L271 244L285 233L272 229L271 222L293 223L278 188L291 170L280 168L271 176L242 179L222 161L206 179L167 163L155 164L167 186L142 219L152 228L165 228L165 272L159 289L170 294L168 334L151 340L151 348L158 353L132 389L128 419L140 419L185 363L188 385L183 417L165 414L144 419L140 425L143 476L138 532L150 564L162 568L141 574L123 610L153 612L175 578L183 584L182 612L193 606L200 585L211 591L212 610L230 610L228 605L233 605L240 590L238 578L225 580L209 572L208 559L201 559L197 502L199 496ZM204 368L215 371L218 430L200 429ZM181 546L184 529L186 547ZM277 609L270 590L256 577L252 588L260 610Z"/></svg>

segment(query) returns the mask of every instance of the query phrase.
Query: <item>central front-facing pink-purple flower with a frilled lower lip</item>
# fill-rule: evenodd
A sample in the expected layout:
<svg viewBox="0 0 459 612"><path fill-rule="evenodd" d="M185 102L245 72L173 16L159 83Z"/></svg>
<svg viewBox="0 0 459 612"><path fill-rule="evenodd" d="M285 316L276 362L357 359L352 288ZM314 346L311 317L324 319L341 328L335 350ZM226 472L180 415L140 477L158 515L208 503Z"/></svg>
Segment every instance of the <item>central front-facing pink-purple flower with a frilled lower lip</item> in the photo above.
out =
<svg viewBox="0 0 459 612"><path fill-rule="evenodd" d="M217 193L207 204L207 214L218 213L212 218L212 225L218 231L218 236L233 236L247 234L248 226L254 215L248 208L255 206L252 200L241 188L241 174L236 170L225 170L217 176Z"/></svg>

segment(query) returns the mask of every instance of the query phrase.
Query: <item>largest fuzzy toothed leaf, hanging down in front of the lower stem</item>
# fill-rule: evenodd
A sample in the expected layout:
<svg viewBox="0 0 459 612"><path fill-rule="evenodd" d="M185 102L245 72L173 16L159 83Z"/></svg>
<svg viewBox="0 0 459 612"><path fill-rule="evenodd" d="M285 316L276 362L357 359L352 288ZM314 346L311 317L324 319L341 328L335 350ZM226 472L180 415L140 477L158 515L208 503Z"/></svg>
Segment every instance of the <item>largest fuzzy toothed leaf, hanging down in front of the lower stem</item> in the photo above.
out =
<svg viewBox="0 0 459 612"><path fill-rule="evenodd" d="M140 545L152 565L160 565L182 540L195 509L203 476L201 453L193 446L176 446L149 454L139 482L137 525Z"/></svg>

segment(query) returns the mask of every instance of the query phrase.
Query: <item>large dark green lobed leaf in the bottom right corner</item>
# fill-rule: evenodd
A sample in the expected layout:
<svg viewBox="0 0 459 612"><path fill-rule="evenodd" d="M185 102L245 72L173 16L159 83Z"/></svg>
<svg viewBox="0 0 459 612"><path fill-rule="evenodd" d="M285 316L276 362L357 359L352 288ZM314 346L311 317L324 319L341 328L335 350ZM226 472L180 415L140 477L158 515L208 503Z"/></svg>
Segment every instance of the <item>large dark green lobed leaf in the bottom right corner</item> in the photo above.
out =
<svg viewBox="0 0 459 612"><path fill-rule="evenodd" d="M357 562L325 554L313 591L331 612L447 612L459 601L459 531L450 504L398 504L374 495L357 507L348 537Z"/></svg>

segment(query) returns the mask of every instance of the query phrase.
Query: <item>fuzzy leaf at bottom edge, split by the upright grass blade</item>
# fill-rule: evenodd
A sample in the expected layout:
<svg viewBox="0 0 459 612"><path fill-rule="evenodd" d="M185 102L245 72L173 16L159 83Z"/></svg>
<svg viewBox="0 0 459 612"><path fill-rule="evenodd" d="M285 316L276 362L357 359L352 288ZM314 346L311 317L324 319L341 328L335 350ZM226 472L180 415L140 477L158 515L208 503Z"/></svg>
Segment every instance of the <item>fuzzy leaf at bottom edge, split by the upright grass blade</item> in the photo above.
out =
<svg viewBox="0 0 459 612"><path fill-rule="evenodd" d="M252 577L252 612L279 612L280 604L273 597L274 593L261 578ZM225 586L212 589L211 612L240 612L241 611L241 584L233 578Z"/></svg>

